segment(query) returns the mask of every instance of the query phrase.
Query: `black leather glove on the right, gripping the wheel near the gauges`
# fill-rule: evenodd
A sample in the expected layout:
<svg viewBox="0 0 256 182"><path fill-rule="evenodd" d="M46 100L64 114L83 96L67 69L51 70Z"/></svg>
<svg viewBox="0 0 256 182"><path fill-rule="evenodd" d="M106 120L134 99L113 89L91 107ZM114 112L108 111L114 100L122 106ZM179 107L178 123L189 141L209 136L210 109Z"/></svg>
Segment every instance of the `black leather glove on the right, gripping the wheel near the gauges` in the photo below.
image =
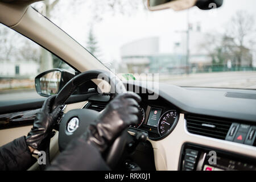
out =
<svg viewBox="0 0 256 182"><path fill-rule="evenodd" d="M138 123L140 101L141 97L132 92L118 94L81 138L96 146L102 154L126 127Z"/></svg>

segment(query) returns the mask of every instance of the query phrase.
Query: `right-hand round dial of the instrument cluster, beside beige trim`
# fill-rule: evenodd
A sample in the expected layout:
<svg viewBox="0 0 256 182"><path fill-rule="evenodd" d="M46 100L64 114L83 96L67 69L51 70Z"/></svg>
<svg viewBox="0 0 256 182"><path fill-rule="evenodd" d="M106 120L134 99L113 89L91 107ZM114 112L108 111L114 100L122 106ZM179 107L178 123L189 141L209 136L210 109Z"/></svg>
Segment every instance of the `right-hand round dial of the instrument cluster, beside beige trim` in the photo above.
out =
<svg viewBox="0 0 256 182"><path fill-rule="evenodd" d="M177 119L176 115L176 110L169 110L160 117L158 121L158 133L161 136L167 134L172 129L172 126Z"/></svg>

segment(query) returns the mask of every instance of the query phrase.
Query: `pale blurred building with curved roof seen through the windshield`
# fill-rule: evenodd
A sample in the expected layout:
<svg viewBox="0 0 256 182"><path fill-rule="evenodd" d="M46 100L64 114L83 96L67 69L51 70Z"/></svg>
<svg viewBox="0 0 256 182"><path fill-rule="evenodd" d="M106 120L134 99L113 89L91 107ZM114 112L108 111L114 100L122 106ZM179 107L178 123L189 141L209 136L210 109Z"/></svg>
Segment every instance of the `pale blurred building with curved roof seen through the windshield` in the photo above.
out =
<svg viewBox="0 0 256 182"><path fill-rule="evenodd" d="M121 59L124 63L122 67L126 67L130 73L183 74L187 67L185 47L184 39L175 43L173 52L160 53L159 38L157 37L127 43L121 47ZM210 57L206 53L200 54L194 50L192 50L192 53L189 64L210 64Z"/></svg>

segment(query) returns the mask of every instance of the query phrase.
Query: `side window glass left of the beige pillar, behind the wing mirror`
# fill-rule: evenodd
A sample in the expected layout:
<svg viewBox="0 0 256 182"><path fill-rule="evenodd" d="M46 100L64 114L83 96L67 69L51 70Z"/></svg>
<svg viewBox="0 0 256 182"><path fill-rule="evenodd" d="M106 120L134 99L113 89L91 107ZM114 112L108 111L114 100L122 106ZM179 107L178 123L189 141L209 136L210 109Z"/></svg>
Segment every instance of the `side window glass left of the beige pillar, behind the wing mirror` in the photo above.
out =
<svg viewBox="0 0 256 182"><path fill-rule="evenodd" d="M0 101L42 97L34 79L53 68L75 73L57 56L0 23Z"/></svg>

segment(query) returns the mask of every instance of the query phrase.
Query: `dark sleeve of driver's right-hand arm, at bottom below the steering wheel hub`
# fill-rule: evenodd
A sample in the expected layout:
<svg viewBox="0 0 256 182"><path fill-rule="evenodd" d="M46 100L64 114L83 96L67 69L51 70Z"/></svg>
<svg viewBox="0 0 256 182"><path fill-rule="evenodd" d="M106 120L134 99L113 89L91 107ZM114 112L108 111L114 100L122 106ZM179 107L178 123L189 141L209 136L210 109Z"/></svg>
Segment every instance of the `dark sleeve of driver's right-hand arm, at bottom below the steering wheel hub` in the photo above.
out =
<svg viewBox="0 0 256 182"><path fill-rule="evenodd" d="M73 140L47 170L107 171L110 168L96 147L79 138Z"/></svg>

